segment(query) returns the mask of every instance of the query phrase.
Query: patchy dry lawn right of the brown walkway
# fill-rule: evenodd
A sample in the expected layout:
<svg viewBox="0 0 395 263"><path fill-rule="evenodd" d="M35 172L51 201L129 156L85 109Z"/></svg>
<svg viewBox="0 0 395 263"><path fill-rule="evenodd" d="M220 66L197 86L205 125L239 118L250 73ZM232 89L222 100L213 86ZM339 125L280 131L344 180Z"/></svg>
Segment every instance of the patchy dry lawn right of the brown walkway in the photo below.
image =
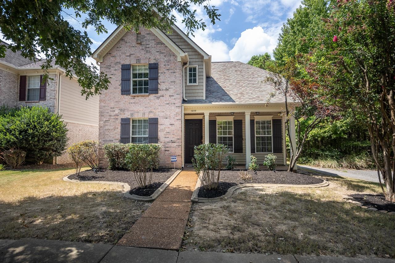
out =
<svg viewBox="0 0 395 263"><path fill-rule="evenodd" d="M321 177L330 185L241 189L227 201L193 205L183 249L395 257L395 216L342 199L380 193L378 184Z"/></svg>

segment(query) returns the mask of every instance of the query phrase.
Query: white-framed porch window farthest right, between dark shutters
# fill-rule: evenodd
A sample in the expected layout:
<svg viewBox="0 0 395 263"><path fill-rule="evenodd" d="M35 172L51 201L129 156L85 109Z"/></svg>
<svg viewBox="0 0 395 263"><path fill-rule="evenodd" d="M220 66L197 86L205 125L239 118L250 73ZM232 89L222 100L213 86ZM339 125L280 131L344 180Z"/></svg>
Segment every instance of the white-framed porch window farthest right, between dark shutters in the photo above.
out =
<svg viewBox="0 0 395 263"><path fill-rule="evenodd" d="M272 121L255 120L256 152L273 152Z"/></svg>

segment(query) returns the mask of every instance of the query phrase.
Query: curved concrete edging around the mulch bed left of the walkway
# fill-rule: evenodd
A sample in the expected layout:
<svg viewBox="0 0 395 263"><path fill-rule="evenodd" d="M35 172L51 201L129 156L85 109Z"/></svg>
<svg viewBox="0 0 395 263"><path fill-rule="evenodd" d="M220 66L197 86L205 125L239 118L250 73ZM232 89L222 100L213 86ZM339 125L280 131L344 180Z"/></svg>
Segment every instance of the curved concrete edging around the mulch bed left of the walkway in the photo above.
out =
<svg viewBox="0 0 395 263"><path fill-rule="evenodd" d="M92 183L92 184L118 184L118 185L122 185L124 187L124 192L123 195L126 198L130 198L133 199L135 201L143 201L143 202L150 202L150 201L154 201L166 188L167 186L169 186L169 184L171 184L171 182L173 182L173 180L177 177L177 175L179 175L179 173L181 173L181 170L177 170L175 171L175 173L173 173L173 175L166 180L166 182L164 182L160 188L156 189L156 191L154 193L152 193L152 195L150 196L140 196L140 195L131 195L130 192L130 185L127 183L123 183L123 182L109 182L109 181L81 181L81 180L75 180L75 179L69 179L68 176L63 177L63 180L66 182L83 182L83 183ZM71 174L73 175L73 174Z"/></svg>

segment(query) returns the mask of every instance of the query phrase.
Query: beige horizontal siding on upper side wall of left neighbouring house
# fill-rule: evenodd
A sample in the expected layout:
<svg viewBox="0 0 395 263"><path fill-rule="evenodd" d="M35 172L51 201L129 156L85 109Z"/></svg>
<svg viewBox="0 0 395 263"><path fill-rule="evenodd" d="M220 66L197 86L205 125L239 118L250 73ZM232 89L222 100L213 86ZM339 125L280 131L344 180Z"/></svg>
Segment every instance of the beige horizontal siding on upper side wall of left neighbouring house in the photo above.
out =
<svg viewBox="0 0 395 263"><path fill-rule="evenodd" d="M80 124L99 124L99 96L85 100L75 79L61 77L60 114L66 121Z"/></svg>

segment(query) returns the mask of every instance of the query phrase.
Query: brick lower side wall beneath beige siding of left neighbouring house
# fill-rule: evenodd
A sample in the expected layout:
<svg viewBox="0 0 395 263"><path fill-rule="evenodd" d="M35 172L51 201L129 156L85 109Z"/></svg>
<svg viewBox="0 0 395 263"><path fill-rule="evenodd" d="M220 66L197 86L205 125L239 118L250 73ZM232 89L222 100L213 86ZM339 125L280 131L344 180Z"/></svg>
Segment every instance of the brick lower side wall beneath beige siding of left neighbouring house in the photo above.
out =
<svg viewBox="0 0 395 263"><path fill-rule="evenodd" d="M73 143L78 143L80 141L85 140L94 140L97 141L99 137L99 127L92 126L92 125L85 125L85 124L77 124L73 122L66 122L67 123L67 137L69 141L67 143L66 149L70 147ZM70 163L69 155L67 152L64 152L62 156L59 156L56 159L57 163Z"/></svg>

